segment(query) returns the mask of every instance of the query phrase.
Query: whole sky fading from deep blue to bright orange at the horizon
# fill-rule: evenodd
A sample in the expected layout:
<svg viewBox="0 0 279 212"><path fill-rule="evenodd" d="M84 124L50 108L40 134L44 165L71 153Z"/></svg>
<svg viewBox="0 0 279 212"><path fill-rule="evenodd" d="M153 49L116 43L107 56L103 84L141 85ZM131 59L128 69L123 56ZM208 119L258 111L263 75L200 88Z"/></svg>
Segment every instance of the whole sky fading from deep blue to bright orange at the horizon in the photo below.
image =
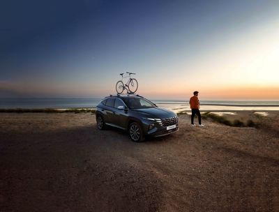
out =
<svg viewBox="0 0 279 212"><path fill-rule="evenodd" d="M279 1L0 3L0 98L279 100L278 59Z"/></svg>

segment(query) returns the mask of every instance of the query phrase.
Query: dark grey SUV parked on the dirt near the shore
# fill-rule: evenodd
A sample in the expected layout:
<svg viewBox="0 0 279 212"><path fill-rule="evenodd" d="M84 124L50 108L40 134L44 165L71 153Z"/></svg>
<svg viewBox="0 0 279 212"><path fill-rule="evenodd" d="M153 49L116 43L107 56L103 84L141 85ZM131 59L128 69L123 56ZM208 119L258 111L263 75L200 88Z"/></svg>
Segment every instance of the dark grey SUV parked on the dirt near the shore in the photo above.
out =
<svg viewBox="0 0 279 212"><path fill-rule="evenodd" d="M97 105L96 121L100 130L106 126L128 130L134 142L142 142L147 135L159 137L179 130L174 112L139 95L107 96Z"/></svg>

